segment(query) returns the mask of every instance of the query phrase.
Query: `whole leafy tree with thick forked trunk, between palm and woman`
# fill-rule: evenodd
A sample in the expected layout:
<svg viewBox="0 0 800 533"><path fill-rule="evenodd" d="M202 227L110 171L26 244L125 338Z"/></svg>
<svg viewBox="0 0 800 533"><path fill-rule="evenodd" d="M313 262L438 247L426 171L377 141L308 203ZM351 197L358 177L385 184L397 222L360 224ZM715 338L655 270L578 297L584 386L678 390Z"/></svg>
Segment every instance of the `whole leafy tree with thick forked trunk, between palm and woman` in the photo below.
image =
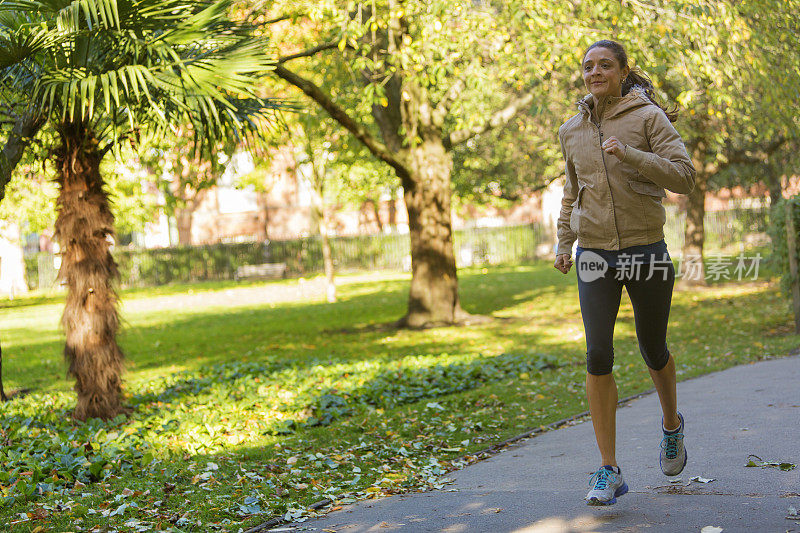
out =
<svg viewBox="0 0 800 533"><path fill-rule="evenodd" d="M327 111L403 187L412 280L400 325L470 319L453 251L452 151L532 102L542 74L530 58L551 55L549 43L534 37L552 30L565 4L530 4L279 1L265 15L291 23L293 40L304 30L301 50L277 43L283 54L274 73ZM326 69L329 63L339 68Z"/></svg>

